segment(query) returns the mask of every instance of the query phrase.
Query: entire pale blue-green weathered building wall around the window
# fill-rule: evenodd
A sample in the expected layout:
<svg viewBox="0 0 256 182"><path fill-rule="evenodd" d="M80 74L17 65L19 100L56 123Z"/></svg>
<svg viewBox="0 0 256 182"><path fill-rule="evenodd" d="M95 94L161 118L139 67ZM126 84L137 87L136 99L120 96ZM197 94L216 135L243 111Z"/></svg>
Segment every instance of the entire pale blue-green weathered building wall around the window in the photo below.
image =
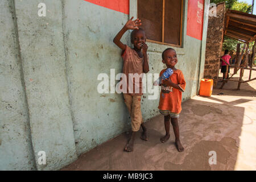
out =
<svg viewBox="0 0 256 182"><path fill-rule="evenodd" d="M46 17L38 16L40 2L46 3ZM122 72L113 38L137 16L136 0L130 0L130 15L78 0L0 5L1 170L59 169L131 128L122 94L98 93L97 76ZM208 20L204 14L203 40L187 36L187 6L184 1L183 47L174 47L187 81L183 101L199 88ZM129 32L122 42L131 46ZM167 47L148 43L150 73L165 68L161 54ZM145 121L159 114L158 102L144 94ZM46 164L38 163L39 151L46 152Z"/></svg>

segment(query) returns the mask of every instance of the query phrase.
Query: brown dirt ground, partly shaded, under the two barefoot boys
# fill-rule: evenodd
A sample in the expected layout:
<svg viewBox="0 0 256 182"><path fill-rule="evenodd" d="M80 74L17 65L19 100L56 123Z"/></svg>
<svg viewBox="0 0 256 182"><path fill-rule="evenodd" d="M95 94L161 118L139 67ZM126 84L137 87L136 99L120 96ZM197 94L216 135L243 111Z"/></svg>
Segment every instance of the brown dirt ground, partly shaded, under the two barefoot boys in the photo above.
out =
<svg viewBox="0 0 256 182"><path fill-rule="evenodd" d="M249 71L243 80L247 77ZM158 115L146 123L148 141L138 134L133 152L123 151L129 136L124 133L61 170L255 170L256 80L241 84L241 90L236 90L237 84L229 81L224 89L217 89L219 82L211 97L195 96L183 102L179 118L183 152L176 150L172 128L171 138L160 142L164 117ZM211 152L216 152L216 164L209 164Z"/></svg>

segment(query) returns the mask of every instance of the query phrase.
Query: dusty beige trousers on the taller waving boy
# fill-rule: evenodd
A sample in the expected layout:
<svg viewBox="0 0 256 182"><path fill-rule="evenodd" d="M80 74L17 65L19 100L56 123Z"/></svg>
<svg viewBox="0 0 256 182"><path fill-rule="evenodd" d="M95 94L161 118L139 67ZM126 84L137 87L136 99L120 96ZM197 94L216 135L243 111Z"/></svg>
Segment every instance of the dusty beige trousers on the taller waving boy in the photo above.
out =
<svg viewBox="0 0 256 182"><path fill-rule="evenodd" d="M139 127L143 123L141 114L141 96L130 96L129 94L123 93L125 104L130 113L131 117L131 130L139 131Z"/></svg>

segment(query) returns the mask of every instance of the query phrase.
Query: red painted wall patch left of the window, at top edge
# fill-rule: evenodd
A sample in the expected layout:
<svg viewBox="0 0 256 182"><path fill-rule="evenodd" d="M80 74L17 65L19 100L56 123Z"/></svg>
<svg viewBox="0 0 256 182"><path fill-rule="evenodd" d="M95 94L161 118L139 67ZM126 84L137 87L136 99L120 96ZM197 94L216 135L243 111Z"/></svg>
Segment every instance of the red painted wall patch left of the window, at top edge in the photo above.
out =
<svg viewBox="0 0 256 182"><path fill-rule="evenodd" d="M84 0L129 15L129 0Z"/></svg>

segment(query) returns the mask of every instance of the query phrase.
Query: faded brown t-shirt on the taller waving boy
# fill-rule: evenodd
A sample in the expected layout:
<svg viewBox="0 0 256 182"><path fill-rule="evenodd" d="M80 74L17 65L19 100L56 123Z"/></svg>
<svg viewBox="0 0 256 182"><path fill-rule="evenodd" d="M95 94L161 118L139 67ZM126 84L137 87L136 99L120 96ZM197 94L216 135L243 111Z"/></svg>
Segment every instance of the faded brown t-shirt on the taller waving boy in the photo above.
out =
<svg viewBox="0 0 256 182"><path fill-rule="evenodd" d="M127 78L127 94L130 96L142 96L143 57L139 57L138 53L134 49L131 49L127 45L125 46L126 49L122 54L122 58L123 73ZM129 73L132 74L130 75L130 78Z"/></svg>

